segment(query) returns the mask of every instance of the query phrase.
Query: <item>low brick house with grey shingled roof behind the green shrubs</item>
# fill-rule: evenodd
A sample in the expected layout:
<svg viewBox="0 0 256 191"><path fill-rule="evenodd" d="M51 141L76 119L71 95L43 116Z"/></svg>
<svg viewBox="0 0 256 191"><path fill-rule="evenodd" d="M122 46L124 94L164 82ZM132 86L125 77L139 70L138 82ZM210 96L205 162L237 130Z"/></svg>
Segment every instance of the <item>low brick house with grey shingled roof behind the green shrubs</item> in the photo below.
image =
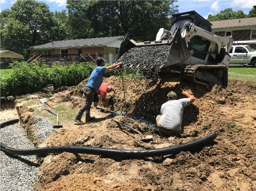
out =
<svg viewBox="0 0 256 191"><path fill-rule="evenodd" d="M91 39L58 40L44 42L35 46L26 48L29 50L29 57L32 55L44 55L43 57L60 56L68 57L75 55L87 56L104 55L105 58L113 58L117 55L120 44L124 36L112 36Z"/></svg>

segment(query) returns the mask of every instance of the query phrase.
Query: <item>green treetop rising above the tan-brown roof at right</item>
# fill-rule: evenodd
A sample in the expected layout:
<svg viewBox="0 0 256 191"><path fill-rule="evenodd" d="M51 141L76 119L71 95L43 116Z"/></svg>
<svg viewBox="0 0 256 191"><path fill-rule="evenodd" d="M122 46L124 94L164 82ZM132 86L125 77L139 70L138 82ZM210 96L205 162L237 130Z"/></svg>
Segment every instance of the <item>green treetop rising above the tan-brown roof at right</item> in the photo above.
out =
<svg viewBox="0 0 256 191"><path fill-rule="evenodd" d="M235 18L246 18L247 14L244 14L242 10L233 11L232 8L227 8L221 10L216 15L209 14L207 20L208 21L219 21L226 19L235 19Z"/></svg>

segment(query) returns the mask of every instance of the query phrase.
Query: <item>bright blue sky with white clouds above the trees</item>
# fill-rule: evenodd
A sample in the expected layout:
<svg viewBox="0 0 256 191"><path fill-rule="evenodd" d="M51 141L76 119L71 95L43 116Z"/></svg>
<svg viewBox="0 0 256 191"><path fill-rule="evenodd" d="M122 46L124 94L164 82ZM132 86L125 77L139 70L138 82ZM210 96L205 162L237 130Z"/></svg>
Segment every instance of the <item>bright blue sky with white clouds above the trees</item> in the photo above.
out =
<svg viewBox="0 0 256 191"><path fill-rule="evenodd" d="M39 0L38 0L39 1ZM65 0L40 0L46 3L51 11L61 11L66 9ZM0 0L0 11L3 9L9 9L15 0ZM256 0L178 0L179 12L187 12L195 10L204 18L208 17L208 14L217 14L221 10L226 8L232 8L233 11L243 10L245 14L248 14L253 5L256 5Z"/></svg>

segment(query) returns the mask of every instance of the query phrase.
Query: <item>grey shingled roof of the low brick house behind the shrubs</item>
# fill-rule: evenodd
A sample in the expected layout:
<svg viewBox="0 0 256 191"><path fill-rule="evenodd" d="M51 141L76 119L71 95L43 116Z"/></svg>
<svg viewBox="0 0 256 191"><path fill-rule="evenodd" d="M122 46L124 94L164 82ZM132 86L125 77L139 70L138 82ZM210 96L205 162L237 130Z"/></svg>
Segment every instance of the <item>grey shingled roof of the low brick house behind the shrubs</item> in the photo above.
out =
<svg viewBox="0 0 256 191"><path fill-rule="evenodd" d="M87 46L87 45L105 45L114 40L121 40L124 36L111 36L91 39L74 39L74 40L58 40L44 42L41 44L34 45L30 48L54 48L54 47L73 47L73 46Z"/></svg>

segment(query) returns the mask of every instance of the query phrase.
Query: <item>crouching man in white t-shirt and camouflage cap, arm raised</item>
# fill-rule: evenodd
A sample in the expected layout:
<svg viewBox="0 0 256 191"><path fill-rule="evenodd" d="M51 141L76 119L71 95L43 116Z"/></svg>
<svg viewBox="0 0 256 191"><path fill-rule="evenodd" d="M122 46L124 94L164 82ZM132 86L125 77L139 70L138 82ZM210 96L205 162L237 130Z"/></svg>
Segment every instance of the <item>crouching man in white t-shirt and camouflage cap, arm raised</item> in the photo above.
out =
<svg viewBox="0 0 256 191"><path fill-rule="evenodd" d="M163 133L171 136L172 134L180 135L183 109L195 101L195 97L182 92L188 98L177 100L177 94L173 91L167 94L168 101L161 107L161 115L158 115L157 127Z"/></svg>

